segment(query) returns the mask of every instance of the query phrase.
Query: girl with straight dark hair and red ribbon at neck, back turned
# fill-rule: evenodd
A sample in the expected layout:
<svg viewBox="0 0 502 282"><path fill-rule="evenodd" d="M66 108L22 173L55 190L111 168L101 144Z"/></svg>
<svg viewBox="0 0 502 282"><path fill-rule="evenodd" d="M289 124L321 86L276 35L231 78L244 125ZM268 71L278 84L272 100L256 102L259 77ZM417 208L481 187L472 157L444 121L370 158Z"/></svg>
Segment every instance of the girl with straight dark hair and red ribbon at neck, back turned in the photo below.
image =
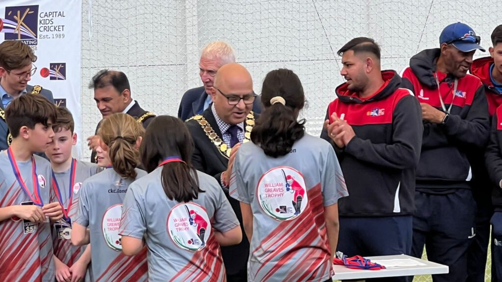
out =
<svg viewBox="0 0 502 282"><path fill-rule="evenodd" d="M192 166L185 124L156 117L140 151L150 174L127 192L119 228L122 251L134 255L146 243L152 281L224 280L220 245L238 244L242 233L216 180Z"/></svg>

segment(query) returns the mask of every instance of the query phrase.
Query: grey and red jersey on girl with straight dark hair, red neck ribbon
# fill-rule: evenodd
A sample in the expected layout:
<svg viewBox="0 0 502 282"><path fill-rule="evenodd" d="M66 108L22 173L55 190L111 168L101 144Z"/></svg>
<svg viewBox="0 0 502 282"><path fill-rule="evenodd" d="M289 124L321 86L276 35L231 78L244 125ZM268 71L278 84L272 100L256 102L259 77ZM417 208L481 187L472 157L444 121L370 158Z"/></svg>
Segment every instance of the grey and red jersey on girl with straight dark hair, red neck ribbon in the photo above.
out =
<svg viewBox="0 0 502 282"><path fill-rule="evenodd" d="M162 167L129 187L122 209L120 234L146 238L151 281L223 281L225 268L214 228L239 226L216 180L197 172L198 199L169 200L161 184Z"/></svg>

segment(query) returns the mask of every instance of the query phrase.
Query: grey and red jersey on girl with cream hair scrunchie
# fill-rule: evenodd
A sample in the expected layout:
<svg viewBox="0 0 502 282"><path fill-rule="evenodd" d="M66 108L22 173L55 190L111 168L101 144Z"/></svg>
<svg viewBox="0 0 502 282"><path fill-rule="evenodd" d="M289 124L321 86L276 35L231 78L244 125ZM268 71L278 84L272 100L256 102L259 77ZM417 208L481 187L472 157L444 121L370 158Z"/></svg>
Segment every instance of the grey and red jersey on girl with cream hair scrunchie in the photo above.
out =
<svg viewBox="0 0 502 282"><path fill-rule="evenodd" d="M249 281L325 281L330 261L324 207L347 196L333 148L306 134L286 156L272 158L243 144L233 165L230 196L250 204L253 238Z"/></svg>

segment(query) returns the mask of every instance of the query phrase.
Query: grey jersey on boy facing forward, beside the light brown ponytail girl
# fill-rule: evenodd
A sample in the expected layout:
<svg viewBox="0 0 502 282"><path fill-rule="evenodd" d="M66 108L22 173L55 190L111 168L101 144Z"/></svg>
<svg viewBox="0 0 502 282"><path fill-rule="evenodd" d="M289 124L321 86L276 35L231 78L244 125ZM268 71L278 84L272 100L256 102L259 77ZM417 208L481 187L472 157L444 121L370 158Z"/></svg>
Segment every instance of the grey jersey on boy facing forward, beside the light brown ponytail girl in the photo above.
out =
<svg viewBox="0 0 502 282"><path fill-rule="evenodd" d="M59 187L59 191L57 191L56 186L53 185L52 188L55 189L54 190L55 193L52 193L51 195L51 202L58 202L59 201L58 194L60 193L63 208L67 210L67 214L70 218L70 219L62 218L58 222L54 223L52 228L54 254L64 264L68 265L68 267L71 267L73 263L75 263L80 258L85 248L87 247L86 245L74 246L70 240L71 223L72 223L71 221L75 219L78 211L78 195L79 195L78 192L80 191L80 188L82 187L82 182L84 182L84 180L101 171L101 168L98 167L96 164L91 164L76 160L74 160L74 162L75 162L74 179L71 187L70 187L70 182L72 181L71 168L65 172L54 173L54 176L56 177L56 183L58 184ZM53 183L51 182L51 184ZM70 204L70 196L72 196L72 200L71 200L71 206L68 208L68 205ZM89 268L87 269L87 271L89 271ZM85 275L85 281L90 281L89 273Z"/></svg>

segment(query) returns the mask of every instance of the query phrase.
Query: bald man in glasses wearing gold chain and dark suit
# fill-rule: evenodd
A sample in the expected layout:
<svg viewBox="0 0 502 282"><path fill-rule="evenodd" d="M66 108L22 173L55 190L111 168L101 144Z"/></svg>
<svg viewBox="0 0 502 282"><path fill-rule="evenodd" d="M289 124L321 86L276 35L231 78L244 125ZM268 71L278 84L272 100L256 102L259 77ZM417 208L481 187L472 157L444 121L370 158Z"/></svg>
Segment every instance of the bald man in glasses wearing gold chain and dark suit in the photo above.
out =
<svg viewBox="0 0 502 282"><path fill-rule="evenodd" d="M257 95L251 75L236 63L223 65L218 70L210 92L211 106L186 121L195 145L192 163L220 183L242 228L239 202L229 197L228 184L235 153L241 143L249 141L255 124L252 108ZM221 251L227 281L247 281L249 242L246 236L242 236L240 244L222 247Z"/></svg>

